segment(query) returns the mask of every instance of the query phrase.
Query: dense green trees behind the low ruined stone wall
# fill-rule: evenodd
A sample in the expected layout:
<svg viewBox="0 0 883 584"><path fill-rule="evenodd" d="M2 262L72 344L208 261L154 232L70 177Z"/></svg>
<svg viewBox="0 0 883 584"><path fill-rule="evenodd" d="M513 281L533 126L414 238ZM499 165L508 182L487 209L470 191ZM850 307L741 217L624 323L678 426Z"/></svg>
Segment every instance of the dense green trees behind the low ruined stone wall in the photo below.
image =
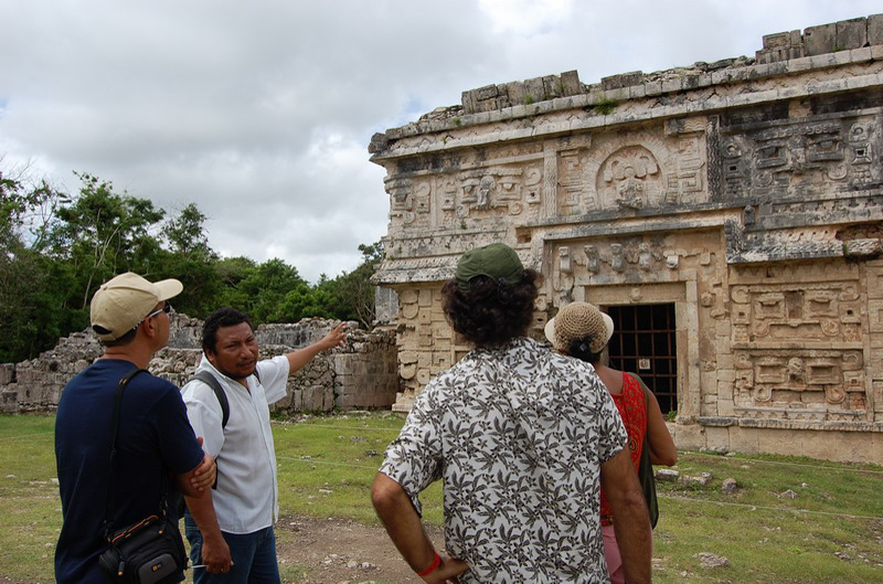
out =
<svg viewBox="0 0 883 584"><path fill-rule="evenodd" d="M127 270L180 279L174 307L196 318L227 305L255 323L318 316L370 328L374 320L370 278L380 243L359 246L363 262L353 272L312 285L278 258L220 257L193 203L167 215L109 182L78 177L79 192L70 195L0 171L0 362L32 359L85 329L97 287Z"/></svg>

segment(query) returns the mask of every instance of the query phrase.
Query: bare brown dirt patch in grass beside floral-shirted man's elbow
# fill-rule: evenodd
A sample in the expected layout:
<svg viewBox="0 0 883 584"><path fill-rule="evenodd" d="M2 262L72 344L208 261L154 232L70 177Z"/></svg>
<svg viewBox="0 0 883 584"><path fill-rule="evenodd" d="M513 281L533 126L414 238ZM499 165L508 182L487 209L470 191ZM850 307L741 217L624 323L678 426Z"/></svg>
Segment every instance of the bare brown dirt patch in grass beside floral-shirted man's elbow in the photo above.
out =
<svg viewBox="0 0 883 584"><path fill-rule="evenodd" d="M427 527L438 551L444 535ZM276 523L277 550L283 571L298 564L308 571L305 583L422 582L402 559L382 527L342 519L284 517Z"/></svg>

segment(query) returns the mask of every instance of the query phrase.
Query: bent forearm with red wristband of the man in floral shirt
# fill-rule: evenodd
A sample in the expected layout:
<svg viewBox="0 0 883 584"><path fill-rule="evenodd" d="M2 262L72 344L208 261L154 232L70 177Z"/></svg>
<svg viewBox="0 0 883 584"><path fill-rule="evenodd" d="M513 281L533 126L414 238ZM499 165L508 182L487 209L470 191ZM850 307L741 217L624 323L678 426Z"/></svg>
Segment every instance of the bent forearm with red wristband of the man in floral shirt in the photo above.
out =
<svg viewBox="0 0 883 584"><path fill-rule="evenodd" d="M436 551L405 489L383 472L377 472L371 487L371 501L386 533L411 569L418 575L432 569L436 562ZM439 559L438 567L421 576L424 582L456 582L454 578L458 574L469 570L469 564L460 560L447 556Z"/></svg>

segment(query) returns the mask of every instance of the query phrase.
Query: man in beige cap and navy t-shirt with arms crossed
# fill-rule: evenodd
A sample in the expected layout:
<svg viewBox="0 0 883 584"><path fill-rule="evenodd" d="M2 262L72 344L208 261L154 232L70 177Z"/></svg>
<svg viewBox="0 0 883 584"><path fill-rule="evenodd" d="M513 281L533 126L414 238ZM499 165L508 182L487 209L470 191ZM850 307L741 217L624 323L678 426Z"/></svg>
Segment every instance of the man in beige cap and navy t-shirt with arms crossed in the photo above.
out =
<svg viewBox="0 0 883 584"><path fill-rule="evenodd" d="M148 372L125 385L110 469L117 387L168 343L168 300L182 289L177 279L150 283L126 273L104 284L92 299L92 329L105 353L64 387L55 418L64 518L55 549L57 582L106 582L98 564L107 548L106 531L161 512L161 501L171 499L174 487L199 497L214 481L214 461L193 434L180 391ZM177 512L173 505L167 510ZM161 582L182 578L178 572Z"/></svg>

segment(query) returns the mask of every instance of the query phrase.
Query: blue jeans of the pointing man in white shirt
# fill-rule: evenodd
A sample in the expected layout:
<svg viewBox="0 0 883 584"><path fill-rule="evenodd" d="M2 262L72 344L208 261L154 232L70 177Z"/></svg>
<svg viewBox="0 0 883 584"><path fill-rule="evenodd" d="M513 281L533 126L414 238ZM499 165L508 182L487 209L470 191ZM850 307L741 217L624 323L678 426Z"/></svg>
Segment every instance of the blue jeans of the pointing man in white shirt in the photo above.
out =
<svg viewBox="0 0 883 584"><path fill-rule="evenodd" d="M190 542L190 561L202 563L202 533L189 513L184 513L184 532ZM279 564L276 562L276 535L273 525L253 533L221 532L230 546L233 567L226 574L211 574L204 567L193 571L194 584L279 584Z"/></svg>

